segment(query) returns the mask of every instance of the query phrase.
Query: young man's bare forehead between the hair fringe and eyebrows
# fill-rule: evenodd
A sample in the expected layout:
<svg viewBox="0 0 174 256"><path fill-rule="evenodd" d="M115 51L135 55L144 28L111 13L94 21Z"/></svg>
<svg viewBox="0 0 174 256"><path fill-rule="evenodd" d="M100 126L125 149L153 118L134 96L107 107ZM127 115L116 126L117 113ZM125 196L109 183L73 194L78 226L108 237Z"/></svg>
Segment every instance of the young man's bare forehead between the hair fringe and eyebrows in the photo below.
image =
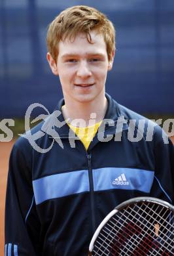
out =
<svg viewBox="0 0 174 256"><path fill-rule="evenodd" d="M73 40L67 38L65 41L60 41L58 56L61 58L67 54L107 54L107 47L103 35L91 32L90 36L92 43L88 42L84 33L77 34Z"/></svg>

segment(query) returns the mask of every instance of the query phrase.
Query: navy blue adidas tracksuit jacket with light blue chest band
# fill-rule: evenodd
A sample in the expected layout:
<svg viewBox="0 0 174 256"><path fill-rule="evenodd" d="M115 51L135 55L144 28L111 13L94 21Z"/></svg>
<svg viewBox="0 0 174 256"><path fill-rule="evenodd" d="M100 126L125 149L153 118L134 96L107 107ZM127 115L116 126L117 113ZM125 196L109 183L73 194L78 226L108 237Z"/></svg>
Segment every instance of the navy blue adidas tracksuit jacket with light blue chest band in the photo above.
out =
<svg viewBox="0 0 174 256"><path fill-rule="evenodd" d="M173 144L166 143L159 126L106 96L105 119L113 122L101 124L105 130L98 131L87 152L80 140L72 148L68 125L54 127L52 116L31 130L37 146L50 147L48 152L38 152L23 137L14 144L7 184L6 256L87 255L94 231L118 203L137 196L174 203ZM64 121L62 114L58 120ZM43 125L50 129L49 124L57 140L45 129L37 137Z"/></svg>

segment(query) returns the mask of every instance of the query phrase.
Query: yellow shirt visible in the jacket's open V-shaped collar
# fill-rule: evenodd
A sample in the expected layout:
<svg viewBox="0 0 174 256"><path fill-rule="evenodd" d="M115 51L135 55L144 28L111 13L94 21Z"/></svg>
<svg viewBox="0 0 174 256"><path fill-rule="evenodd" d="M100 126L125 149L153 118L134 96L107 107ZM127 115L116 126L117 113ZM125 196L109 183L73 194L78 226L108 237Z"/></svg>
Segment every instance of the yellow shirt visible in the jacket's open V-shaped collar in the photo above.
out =
<svg viewBox="0 0 174 256"><path fill-rule="evenodd" d="M93 140L94 136L96 135L97 129L99 128L99 125L101 125L101 122L102 121L99 121L99 123L96 123L96 125L92 125L88 127L76 127L71 125L70 123L67 123L67 124L75 132L75 134L81 140L82 144L84 144L84 147L86 148L86 150L88 150L88 147L90 146L90 142Z"/></svg>

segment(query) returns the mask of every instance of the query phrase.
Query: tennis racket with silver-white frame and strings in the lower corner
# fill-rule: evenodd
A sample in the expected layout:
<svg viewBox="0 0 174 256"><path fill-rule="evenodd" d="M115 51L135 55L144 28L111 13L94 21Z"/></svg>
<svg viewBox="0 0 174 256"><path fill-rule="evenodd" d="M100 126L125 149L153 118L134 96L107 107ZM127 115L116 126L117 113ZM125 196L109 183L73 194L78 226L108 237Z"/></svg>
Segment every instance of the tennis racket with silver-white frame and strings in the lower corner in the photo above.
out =
<svg viewBox="0 0 174 256"><path fill-rule="evenodd" d="M98 226L88 255L173 256L173 205L149 197L120 203Z"/></svg>

